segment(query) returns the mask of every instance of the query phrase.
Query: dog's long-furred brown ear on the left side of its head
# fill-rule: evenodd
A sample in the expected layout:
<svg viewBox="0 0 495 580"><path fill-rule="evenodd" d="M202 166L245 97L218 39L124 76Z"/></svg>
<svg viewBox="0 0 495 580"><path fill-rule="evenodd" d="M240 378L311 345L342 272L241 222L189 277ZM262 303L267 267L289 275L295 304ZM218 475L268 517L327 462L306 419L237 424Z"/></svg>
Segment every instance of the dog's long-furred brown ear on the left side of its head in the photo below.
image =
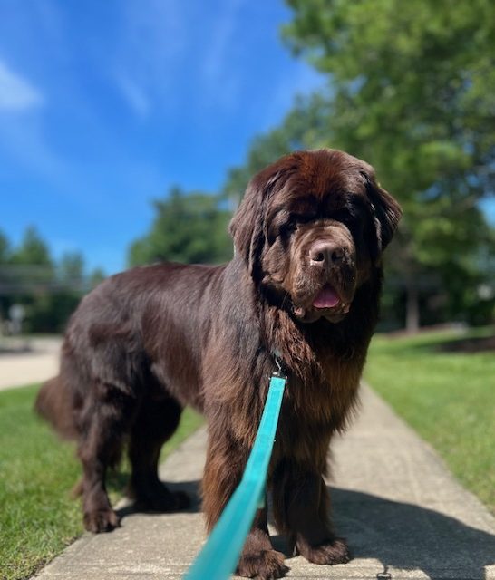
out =
<svg viewBox="0 0 495 580"><path fill-rule="evenodd" d="M265 245L265 219L267 202L282 172L269 166L257 173L248 183L244 198L230 221L229 232L234 247L256 277L259 256Z"/></svg>

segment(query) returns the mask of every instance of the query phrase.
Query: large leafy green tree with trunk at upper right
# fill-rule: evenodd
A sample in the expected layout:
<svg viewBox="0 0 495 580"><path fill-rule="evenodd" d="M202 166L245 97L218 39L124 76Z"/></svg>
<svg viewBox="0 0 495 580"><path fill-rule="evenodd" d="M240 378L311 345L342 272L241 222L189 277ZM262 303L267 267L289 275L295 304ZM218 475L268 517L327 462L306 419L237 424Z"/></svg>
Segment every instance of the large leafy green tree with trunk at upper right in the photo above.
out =
<svg viewBox="0 0 495 580"><path fill-rule="evenodd" d="M414 329L429 275L444 287L452 278L471 280L490 244L478 202L493 194L495 181L495 5L287 4L294 17L286 41L327 73L331 86L326 134L316 131L312 140L370 161L403 205L390 255L407 287Z"/></svg>

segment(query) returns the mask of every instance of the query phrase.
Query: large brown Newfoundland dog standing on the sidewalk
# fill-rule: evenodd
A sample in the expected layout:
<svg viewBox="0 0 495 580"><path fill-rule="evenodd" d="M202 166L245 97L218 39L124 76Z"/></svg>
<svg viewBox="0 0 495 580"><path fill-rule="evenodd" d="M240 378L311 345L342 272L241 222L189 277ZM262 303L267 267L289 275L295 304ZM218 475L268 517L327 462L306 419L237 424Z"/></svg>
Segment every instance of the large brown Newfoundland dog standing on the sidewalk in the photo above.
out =
<svg viewBox="0 0 495 580"><path fill-rule="evenodd" d="M329 519L327 450L356 401L382 252L400 218L364 161L299 151L250 181L226 266L137 267L86 296L68 325L60 374L36 402L78 442L85 527L119 525L105 474L126 442L137 504L189 505L160 482L157 462L191 405L208 420L202 493L211 529L242 476L277 358L288 375L268 475L277 527L310 562L346 562ZM238 574L285 572L260 509Z"/></svg>

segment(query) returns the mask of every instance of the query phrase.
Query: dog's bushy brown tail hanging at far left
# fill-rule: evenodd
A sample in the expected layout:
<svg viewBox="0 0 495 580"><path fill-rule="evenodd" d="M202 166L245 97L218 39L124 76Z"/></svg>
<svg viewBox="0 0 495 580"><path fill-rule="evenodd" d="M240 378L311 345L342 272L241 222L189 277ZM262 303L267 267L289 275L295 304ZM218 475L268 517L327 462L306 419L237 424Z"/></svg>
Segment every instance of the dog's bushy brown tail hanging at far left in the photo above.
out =
<svg viewBox="0 0 495 580"><path fill-rule="evenodd" d="M34 402L34 411L51 423L63 439L77 439L71 391L60 375L44 382Z"/></svg>

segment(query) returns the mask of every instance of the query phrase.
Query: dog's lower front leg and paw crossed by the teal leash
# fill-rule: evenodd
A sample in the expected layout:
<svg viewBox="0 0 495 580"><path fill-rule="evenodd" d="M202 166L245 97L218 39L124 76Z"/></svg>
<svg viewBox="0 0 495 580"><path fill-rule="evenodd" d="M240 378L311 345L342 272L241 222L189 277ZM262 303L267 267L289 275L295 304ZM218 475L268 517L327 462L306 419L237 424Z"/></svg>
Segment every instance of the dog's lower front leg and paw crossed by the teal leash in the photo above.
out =
<svg viewBox="0 0 495 580"><path fill-rule="evenodd" d="M217 523L228 499L238 486L246 467L248 449L236 445L225 434L210 433L203 477L203 510L208 530ZM258 509L239 558L237 574L264 580L286 574L284 555L273 549L268 536L267 510Z"/></svg>

